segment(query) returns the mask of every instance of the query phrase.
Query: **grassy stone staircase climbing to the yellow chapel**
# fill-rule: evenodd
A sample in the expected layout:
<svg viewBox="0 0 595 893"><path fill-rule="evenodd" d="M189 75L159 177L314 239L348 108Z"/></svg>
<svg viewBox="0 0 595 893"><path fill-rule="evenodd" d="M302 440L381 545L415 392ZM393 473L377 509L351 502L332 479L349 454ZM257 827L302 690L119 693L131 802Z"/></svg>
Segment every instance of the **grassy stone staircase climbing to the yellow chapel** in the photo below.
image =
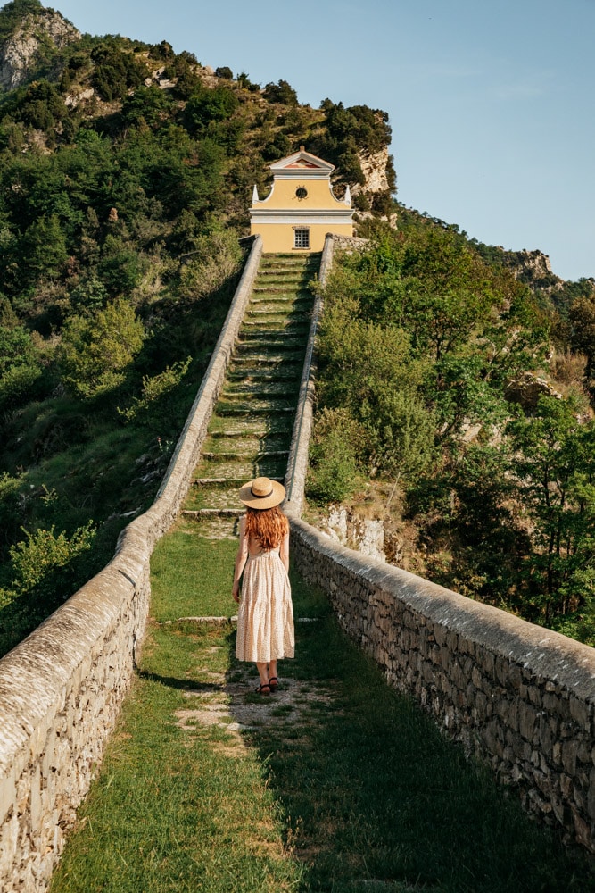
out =
<svg viewBox="0 0 595 893"><path fill-rule="evenodd" d="M237 490L285 479L320 255L264 255L183 516L207 538L236 535ZM195 525L195 526L194 526Z"/></svg>

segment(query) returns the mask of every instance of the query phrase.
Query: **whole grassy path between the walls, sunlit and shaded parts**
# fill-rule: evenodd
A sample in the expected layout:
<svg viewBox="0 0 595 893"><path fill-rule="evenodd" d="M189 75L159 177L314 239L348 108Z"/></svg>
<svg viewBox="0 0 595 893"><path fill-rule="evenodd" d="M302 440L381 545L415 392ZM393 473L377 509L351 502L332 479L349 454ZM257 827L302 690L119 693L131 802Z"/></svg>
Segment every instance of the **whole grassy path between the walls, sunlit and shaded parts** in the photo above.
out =
<svg viewBox="0 0 595 893"><path fill-rule="evenodd" d="M235 551L164 538L156 619L231 613ZM595 890L582 859L384 684L320 593L293 576L293 597L319 620L296 624L268 699L231 627L152 626L52 893ZM225 715L209 725L209 711Z"/></svg>

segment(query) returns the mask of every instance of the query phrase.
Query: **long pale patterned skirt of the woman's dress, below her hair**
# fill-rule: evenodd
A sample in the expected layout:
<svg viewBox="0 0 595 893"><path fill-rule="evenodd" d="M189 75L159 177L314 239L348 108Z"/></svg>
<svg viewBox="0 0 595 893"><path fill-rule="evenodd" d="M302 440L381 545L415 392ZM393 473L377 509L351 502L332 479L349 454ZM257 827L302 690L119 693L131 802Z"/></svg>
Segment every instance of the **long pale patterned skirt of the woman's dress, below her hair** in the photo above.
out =
<svg viewBox="0 0 595 893"><path fill-rule="evenodd" d="M269 663L293 657L292 590L279 548L248 554L237 610L240 661Z"/></svg>

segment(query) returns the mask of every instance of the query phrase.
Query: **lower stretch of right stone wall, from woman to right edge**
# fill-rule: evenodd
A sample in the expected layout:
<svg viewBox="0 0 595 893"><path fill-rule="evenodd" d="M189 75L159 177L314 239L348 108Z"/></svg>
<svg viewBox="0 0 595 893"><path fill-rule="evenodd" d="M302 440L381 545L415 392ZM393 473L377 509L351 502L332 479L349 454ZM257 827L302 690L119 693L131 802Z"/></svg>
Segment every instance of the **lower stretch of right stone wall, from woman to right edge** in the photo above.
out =
<svg viewBox="0 0 595 893"><path fill-rule="evenodd" d="M288 513L299 571L389 683L595 854L595 649L362 557Z"/></svg>

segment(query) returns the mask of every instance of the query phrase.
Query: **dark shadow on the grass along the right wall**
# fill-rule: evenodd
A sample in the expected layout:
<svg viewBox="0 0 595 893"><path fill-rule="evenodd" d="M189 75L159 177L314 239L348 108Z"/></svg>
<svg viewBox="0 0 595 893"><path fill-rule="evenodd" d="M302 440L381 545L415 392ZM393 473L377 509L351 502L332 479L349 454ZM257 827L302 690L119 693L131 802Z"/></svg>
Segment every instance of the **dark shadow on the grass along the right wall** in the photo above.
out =
<svg viewBox="0 0 595 893"><path fill-rule="evenodd" d="M296 659L279 663L283 689L261 698L260 722L243 734L268 767L288 853L305 865L300 889L595 890L583 856L388 688L324 596L293 579L293 600L296 616L319 622L296 624ZM237 680L252 670L235 661L235 635L227 641Z"/></svg>

